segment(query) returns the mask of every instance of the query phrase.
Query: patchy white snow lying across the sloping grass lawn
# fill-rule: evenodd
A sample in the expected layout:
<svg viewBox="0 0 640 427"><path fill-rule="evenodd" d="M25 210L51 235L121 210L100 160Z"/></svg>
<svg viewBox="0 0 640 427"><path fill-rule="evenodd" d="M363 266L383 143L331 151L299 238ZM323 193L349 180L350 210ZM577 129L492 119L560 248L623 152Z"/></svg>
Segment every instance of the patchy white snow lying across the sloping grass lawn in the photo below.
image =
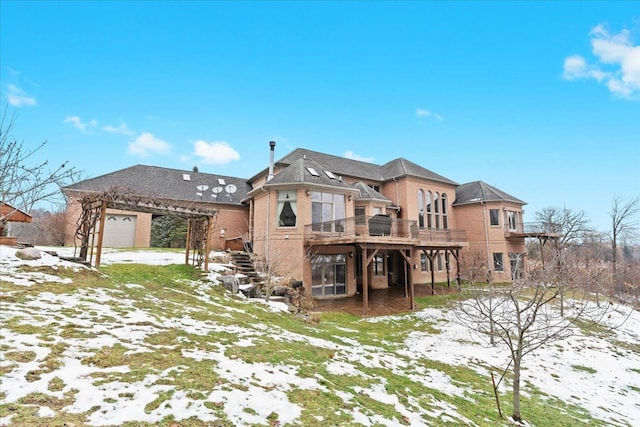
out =
<svg viewBox="0 0 640 427"><path fill-rule="evenodd" d="M55 250L61 255L72 256L70 249L41 248ZM158 251L105 250L103 264L109 263L148 263L156 265L182 263L184 254ZM57 277L52 273L25 272L20 266L51 266L54 269L85 267L61 261L58 257L43 253L39 260L23 261L15 256L15 249L0 246L0 281L18 286L34 286L41 283L70 284L71 279ZM211 275L224 266L211 266ZM458 325L453 313L441 309L424 309L410 316L431 324L441 330L438 333L415 331L408 336L404 345L395 350L363 345L352 338L340 338L328 341L301 335L279 328L267 328L256 324L253 328L236 327L216 321L198 320L185 308L181 318L159 318L142 308L127 303L123 298L126 289L139 287L135 283L127 284L123 289L87 289L76 292L52 293L40 292L35 297L12 299L5 298L11 292L0 294L2 301L2 320L0 337L3 345L0 368L6 372L0 378L1 404L17 402L32 394L42 393L59 399L68 398L71 390L72 403L62 410L68 413L89 413L87 425L118 425L125 422L157 423L168 415L176 419L196 417L204 422L213 422L219 418L220 408L228 420L235 425L265 423L270 414L278 414L281 424L296 423L302 408L288 397L292 389L312 390L319 393L329 392L328 382L321 375L300 376L298 366L276 365L270 363L248 363L242 359L227 356L229 345L252 347L265 338L276 339L300 345L309 345L318 349L327 349L335 356L325 362L326 371L335 375L352 375L366 378L366 387L354 390L331 392L339 394L345 402L354 402L348 411L354 422L361 425L398 425L397 419L385 418L361 410L356 404L356 396L364 394L371 399L396 407L408 425L425 425L424 417L435 417L442 421L459 424L477 425L478 420L467 419L458 409L448 402L434 401L429 409L411 400L401 400L389 393L383 379L376 379L364 372L362 366L379 366L397 375L406 375L412 380L428 384L428 387L444 391L448 395L469 399L463 385L455 383L444 372L425 369L421 359L439 360L450 365L471 367L486 374L488 366L495 367L494 372L507 364L504 352L488 347L479 338L469 334ZM207 283L193 283L193 293L206 299L209 304L219 307L220 311L238 311L236 307L226 306L211 299ZM117 304L113 304L117 301ZM273 309L282 309L277 303ZM115 320L117 319L117 321ZM62 331L65 327L82 328L85 336L56 337L64 342L66 349L61 356L63 363L49 372L44 372L33 380L28 373L38 370L40 364L52 352L52 344L41 336L31 333L15 332L6 322L19 320L21 324L55 327ZM622 322L623 320L624 323ZM362 322L393 322L394 316L366 319ZM640 425L640 313L617 311L608 319L611 325L622 324L614 330L615 339L631 343L630 346L616 346L611 339L598 335L585 335L576 330L572 339L541 349L527 356L523 382L537 387L550 397L573 403L587 409L592 416L613 426ZM173 390L169 378L176 372L187 369L185 365L176 365L163 372L147 375L133 382L99 381L105 375L127 373L126 365L101 368L83 364L81 359L95 354L96 351L120 344L127 354L157 351L146 338L162 330L176 328L195 335L225 332L236 336L233 344L215 343L210 347L198 348L185 345L182 356L193 361L211 361L215 374L224 379L224 384L210 390L205 398L197 398L183 390L174 393L153 410L145 410L150 402L159 395ZM357 329L357 324L353 325ZM635 344L634 344L635 343ZM635 348L633 348L635 345ZM32 352L35 356L26 361L15 361L5 357L9 352ZM100 374L96 376L96 374ZM54 379L61 380L64 386L59 390L51 389ZM235 385L229 387L229 384ZM505 386L503 385L502 388ZM526 390L525 390L526 391ZM435 400L435 399L434 399ZM207 402L218 402L212 408ZM37 405L40 417L54 417L56 412L46 404ZM96 409L97 408L97 409ZM12 414L0 412L0 425L10 425ZM318 425L322 425L318 417Z"/></svg>

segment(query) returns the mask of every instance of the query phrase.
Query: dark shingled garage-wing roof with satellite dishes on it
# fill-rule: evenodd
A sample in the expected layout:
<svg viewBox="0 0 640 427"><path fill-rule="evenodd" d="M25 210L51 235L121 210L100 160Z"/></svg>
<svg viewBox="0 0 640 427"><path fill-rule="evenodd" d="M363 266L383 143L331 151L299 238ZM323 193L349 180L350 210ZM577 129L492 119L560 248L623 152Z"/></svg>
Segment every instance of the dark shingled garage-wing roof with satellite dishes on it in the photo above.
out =
<svg viewBox="0 0 640 427"><path fill-rule="evenodd" d="M183 175L189 175L190 180L185 180ZM218 183L218 178L224 179L224 185ZM236 191L233 193L225 191L225 188L231 189L227 187L230 184L236 187ZM199 191L197 189L199 185L206 185L208 188ZM232 205L241 204L251 190L251 186L243 178L136 165L77 182L64 187L62 191L65 193L67 191L99 193L114 187L144 197ZM212 190L216 187L220 187L221 190L216 197L213 197ZM197 193L202 193L202 196Z"/></svg>

